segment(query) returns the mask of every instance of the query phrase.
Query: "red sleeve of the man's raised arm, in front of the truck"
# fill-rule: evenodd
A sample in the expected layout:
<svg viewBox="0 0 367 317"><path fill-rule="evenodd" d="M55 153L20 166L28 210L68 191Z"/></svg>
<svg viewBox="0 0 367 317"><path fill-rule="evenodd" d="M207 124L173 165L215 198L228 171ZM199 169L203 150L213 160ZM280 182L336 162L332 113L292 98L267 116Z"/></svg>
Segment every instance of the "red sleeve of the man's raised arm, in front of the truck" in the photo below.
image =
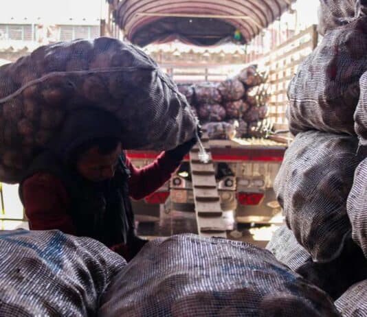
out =
<svg viewBox="0 0 367 317"><path fill-rule="evenodd" d="M162 152L153 163L137 169L126 157L126 166L131 171L131 178L129 179L130 196L135 200L139 200L154 193L170 179L180 164L181 161L175 161L165 152Z"/></svg>

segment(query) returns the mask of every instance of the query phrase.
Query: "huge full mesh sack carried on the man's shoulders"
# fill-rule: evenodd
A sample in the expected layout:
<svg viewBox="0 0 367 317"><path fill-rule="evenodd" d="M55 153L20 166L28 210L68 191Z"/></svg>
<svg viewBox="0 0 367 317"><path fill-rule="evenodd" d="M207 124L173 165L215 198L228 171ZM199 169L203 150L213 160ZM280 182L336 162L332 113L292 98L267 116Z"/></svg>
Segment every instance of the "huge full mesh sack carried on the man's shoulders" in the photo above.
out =
<svg viewBox="0 0 367 317"><path fill-rule="evenodd" d="M1 67L0 83L0 180L9 183L75 108L118 117L126 149L168 150L196 130L174 82L142 51L113 38L40 47Z"/></svg>

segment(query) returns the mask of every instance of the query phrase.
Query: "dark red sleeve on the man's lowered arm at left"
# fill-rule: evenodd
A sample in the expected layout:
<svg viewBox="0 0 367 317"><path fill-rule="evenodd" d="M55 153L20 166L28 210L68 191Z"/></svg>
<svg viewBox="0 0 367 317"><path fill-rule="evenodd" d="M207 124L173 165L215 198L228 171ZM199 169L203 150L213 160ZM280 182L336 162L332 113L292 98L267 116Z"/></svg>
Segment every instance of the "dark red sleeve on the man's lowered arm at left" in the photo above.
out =
<svg viewBox="0 0 367 317"><path fill-rule="evenodd" d="M58 229L76 235L67 214L69 198L63 183L51 174L34 174L23 183L23 204L31 230Z"/></svg>

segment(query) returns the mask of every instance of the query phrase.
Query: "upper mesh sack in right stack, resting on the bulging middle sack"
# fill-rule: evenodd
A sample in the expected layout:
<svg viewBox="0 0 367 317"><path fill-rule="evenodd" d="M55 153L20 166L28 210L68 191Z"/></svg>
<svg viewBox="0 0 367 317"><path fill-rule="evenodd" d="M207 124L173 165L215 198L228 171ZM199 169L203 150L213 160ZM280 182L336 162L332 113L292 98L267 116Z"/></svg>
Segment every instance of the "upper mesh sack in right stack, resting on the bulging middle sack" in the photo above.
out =
<svg viewBox="0 0 367 317"><path fill-rule="evenodd" d="M355 134L359 78L367 70L367 17L327 32L289 84L293 134L307 130Z"/></svg>

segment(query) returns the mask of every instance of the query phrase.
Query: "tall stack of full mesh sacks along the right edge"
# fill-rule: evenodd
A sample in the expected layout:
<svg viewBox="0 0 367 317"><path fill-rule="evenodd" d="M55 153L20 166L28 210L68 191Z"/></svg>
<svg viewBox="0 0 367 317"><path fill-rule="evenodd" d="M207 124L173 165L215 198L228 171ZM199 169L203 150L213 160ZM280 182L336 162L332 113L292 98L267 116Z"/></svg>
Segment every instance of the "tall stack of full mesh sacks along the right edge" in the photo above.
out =
<svg viewBox="0 0 367 317"><path fill-rule="evenodd" d="M357 300L367 274L364 2L321 1L326 33L289 85L287 117L296 138L274 183L288 239L278 233L268 246L333 298L341 296L336 303L344 316L367 316Z"/></svg>

